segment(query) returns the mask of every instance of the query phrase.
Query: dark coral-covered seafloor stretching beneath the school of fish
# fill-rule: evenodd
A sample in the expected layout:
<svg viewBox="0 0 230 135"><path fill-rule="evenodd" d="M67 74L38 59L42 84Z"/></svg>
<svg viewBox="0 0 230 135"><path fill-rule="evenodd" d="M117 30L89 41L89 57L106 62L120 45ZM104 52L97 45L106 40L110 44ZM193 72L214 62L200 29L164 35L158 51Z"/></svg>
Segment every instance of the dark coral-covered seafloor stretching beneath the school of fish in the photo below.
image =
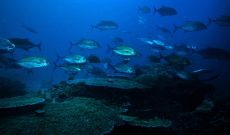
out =
<svg viewBox="0 0 230 135"><path fill-rule="evenodd" d="M133 79L67 80L26 95L16 91L23 89L17 81L5 84L0 135L230 134L230 102L217 99L214 86L153 71Z"/></svg>

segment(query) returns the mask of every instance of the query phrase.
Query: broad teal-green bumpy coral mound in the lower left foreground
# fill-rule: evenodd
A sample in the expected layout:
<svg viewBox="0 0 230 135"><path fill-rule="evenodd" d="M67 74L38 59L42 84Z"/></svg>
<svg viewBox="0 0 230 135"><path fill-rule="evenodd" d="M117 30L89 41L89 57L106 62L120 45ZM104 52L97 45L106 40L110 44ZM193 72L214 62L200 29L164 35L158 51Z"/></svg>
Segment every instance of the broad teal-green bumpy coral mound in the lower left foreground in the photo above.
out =
<svg viewBox="0 0 230 135"><path fill-rule="evenodd" d="M101 135L121 124L119 108L105 106L91 98L73 98L61 103L48 103L45 115L0 119L0 134L12 135Z"/></svg>

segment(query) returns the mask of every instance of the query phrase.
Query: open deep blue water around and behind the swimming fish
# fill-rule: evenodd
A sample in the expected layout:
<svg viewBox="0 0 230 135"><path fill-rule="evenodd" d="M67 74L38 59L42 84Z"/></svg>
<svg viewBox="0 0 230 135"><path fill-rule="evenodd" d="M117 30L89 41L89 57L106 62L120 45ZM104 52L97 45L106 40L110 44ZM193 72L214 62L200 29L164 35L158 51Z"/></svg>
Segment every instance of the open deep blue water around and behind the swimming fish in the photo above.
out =
<svg viewBox="0 0 230 135"><path fill-rule="evenodd" d="M178 15L162 17L159 14L141 14L138 7L147 5L151 8L162 5L174 7ZM149 64L147 55L153 53L148 45L137 40L138 37L160 38L170 45L177 43L195 44L197 48L219 47L230 51L230 28L218 27L216 24L208 26L207 30L199 32L177 31L173 38L155 29L162 25L173 29L187 20L199 20L204 23L208 18L230 13L228 0L1 0L0 1L0 37L29 38L35 43L42 41L42 52L33 48L28 52L17 50L16 58L24 56L43 56L50 61L50 66L35 69L28 74L22 69L1 70L1 74L19 78L28 88L36 90L45 80L54 78L54 83L66 80L68 75L62 70L52 71L56 54L69 54L69 41L77 42L81 38L91 38L101 44L100 49L81 51L73 47L72 53L83 55L95 54L101 58L111 57L106 54L107 45L113 37L122 37L125 43L137 49L142 55L135 58L134 63ZM144 18L139 23L138 18ZM119 29L111 31L94 30L91 25L100 20L112 20L119 24ZM33 34L22 28L30 26L38 31ZM112 57L112 59L117 59ZM210 83L217 86L219 93L228 93L230 88L230 62L206 60L199 56L192 56L191 69L208 68L220 73L221 76ZM76 78L84 77L79 74ZM224 94L223 94L224 95Z"/></svg>

